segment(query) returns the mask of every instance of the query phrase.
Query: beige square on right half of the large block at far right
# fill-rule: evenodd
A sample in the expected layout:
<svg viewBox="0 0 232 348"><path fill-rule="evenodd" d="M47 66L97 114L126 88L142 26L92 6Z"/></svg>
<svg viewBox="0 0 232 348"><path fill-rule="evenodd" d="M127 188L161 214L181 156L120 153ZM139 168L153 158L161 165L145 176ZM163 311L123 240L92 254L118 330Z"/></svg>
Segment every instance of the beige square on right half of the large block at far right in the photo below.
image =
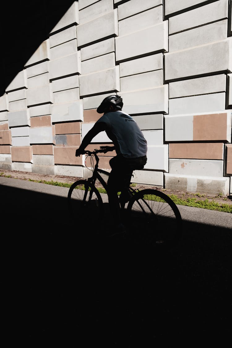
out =
<svg viewBox="0 0 232 348"><path fill-rule="evenodd" d="M193 141L227 139L227 113L193 116Z"/></svg>

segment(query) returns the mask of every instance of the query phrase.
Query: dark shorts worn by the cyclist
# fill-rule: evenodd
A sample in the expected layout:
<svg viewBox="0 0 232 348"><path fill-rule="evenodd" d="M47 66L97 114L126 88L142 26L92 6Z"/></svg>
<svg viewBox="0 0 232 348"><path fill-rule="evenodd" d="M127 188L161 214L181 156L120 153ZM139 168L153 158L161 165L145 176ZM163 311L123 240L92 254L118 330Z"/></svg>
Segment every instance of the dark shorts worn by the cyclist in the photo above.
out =
<svg viewBox="0 0 232 348"><path fill-rule="evenodd" d="M130 185L131 176L134 170L143 169L147 162L147 157L126 158L117 155L110 160L112 168L108 179L108 188L118 191L126 190Z"/></svg>

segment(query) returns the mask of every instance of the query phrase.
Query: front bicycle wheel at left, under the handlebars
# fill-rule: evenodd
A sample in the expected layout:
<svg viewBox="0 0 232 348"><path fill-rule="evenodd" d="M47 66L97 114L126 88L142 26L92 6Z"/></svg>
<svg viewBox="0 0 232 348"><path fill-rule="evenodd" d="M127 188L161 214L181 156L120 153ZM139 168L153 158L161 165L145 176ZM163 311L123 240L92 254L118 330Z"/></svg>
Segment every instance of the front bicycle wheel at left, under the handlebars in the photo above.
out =
<svg viewBox="0 0 232 348"><path fill-rule="evenodd" d="M86 180L75 181L68 192L68 206L72 214L81 218L99 217L103 212L103 201L95 186Z"/></svg>

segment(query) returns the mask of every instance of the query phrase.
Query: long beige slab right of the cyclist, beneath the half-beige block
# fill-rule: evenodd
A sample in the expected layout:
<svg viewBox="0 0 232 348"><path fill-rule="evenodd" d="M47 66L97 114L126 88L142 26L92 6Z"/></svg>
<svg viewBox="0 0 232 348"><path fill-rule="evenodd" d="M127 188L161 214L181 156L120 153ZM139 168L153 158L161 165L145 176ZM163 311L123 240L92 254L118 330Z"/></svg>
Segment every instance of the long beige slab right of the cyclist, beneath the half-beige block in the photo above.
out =
<svg viewBox="0 0 232 348"><path fill-rule="evenodd" d="M169 158L223 159L224 143L170 143Z"/></svg>

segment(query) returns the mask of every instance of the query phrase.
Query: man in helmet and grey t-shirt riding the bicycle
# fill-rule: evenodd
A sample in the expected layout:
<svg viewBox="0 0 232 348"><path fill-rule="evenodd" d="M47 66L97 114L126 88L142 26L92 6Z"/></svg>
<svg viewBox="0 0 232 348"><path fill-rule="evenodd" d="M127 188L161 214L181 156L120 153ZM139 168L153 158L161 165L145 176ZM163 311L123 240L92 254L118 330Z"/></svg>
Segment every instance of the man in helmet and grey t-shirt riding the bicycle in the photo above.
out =
<svg viewBox="0 0 232 348"><path fill-rule="evenodd" d="M122 98L119 95L110 95L98 106L97 112L104 113L94 124L93 128L85 135L76 156L83 155L85 148L91 140L100 132L105 131L112 140L117 156L109 163L112 168L107 181L107 193L110 211L114 226L118 232L124 232L125 227L120 219L120 204L117 192L121 191L120 200L127 202L128 187L134 170L143 169L147 161L147 142L141 129L135 120L126 112L122 111Z"/></svg>

